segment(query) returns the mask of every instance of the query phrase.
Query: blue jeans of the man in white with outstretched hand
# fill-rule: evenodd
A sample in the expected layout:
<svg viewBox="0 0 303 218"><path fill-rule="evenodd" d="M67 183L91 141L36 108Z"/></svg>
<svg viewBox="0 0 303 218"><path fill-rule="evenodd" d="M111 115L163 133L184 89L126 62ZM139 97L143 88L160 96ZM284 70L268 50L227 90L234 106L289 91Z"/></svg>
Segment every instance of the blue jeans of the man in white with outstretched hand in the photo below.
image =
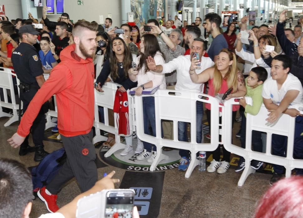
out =
<svg viewBox="0 0 303 218"><path fill-rule="evenodd" d="M201 143L203 139L203 130L202 130L202 117L203 117L203 102L196 102L196 141ZM178 140L187 142L187 122L178 122ZM179 155L181 157L189 158L189 150L179 149Z"/></svg>

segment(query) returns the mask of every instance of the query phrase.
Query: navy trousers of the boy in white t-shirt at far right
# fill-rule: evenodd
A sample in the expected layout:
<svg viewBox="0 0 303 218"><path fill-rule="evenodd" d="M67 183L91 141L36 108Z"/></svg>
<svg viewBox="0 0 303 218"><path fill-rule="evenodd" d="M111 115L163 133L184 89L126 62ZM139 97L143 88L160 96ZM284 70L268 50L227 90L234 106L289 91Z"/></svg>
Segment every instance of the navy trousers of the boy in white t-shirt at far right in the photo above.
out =
<svg viewBox="0 0 303 218"><path fill-rule="evenodd" d="M296 117L295 124L295 139L294 139L294 159L303 159L303 117ZM301 135L302 134L302 135ZM284 135L272 134L272 154L280 157L286 157L287 137ZM284 167L272 164L276 173L284 173ZM303 169L296 168L296 174L302 175Z"/></svg>

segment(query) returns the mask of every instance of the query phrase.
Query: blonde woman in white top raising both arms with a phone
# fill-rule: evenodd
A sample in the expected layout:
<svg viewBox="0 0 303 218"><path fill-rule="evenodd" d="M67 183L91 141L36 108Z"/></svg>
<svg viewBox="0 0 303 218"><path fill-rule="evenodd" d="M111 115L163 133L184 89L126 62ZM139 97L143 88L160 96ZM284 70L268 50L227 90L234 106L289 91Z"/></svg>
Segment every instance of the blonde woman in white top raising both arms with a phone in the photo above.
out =
<svg viewBox="0 0 303 218"><path fill-rule="evenodd" d="M270 66L268 66L264 60L262 59L261 55L264 57L269 57L270 52L265 51L266 45L272 45L275 46L275 49L277 47L277 42L274 37L270 35L263 35L258 40L255 34L252 30L248 30L249 34L249 40L252 40L254 42L254 54L249 53L247 51L243 50L242 42L241 42L241 33L237 35L237 46L236 46L236 55L241 57L243 60L245 60L245 66L244 66L244 73L247 74L253 67L264 67L267 70L268 77L270 77Z"/></svg>

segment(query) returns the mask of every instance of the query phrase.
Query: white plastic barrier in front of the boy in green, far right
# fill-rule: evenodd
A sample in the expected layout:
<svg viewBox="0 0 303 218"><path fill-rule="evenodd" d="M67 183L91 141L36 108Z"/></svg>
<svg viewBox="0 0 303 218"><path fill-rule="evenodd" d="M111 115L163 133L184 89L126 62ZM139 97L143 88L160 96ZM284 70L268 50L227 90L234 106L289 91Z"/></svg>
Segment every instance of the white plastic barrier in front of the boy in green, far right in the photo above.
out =
<svg viewBox="0 0 303 218"><path fill-rule="evenodd" d="M251 98L246 97L248 104L252 103ZM261 106L259 113L256 116L247 114L246 116L246 145L245 149L233 145L232 139L232 106L238 104L234 99L230 99L224 103L224 147L226 150L240 155L245 159L245 169L239 179L238 186L242 186L249 174L255 173L256 170L249 167L251 160L259 160L265 163L278 164L286 168L286 177L291 176L291 170L294 168L303 168L303 160L293 159L293 145L294 145L294 132L295 132L295 117L287 114L282 114L280 118L274 123L268 123L265 119L268 117L268 111L264 105ZM303 108L297 105L289 108L296 108L303 114ZM257 130L267 133L266 153L252 151L252 130ZM287 156L279 157L271 154L272 134L285 135L287 140ZM263 145L265 146L265 145Z"/></svg>

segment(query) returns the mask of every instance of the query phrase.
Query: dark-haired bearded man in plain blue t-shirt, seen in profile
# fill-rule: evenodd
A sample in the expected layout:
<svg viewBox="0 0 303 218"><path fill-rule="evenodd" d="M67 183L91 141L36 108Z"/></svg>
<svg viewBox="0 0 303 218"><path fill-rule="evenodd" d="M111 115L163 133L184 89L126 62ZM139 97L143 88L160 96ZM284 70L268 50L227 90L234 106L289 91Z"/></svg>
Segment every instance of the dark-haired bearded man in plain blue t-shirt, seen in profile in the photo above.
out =
<svg viewBox="0 0 303 218"><path fill-rule="evenodd" d="M213 41L207 53L214 62L217 61L217 56L220 51L224 48L228 48L226 39L219 31L221 21L222 19L218 14L208 13L205 15L206 30L213 37Z"/></svg>

